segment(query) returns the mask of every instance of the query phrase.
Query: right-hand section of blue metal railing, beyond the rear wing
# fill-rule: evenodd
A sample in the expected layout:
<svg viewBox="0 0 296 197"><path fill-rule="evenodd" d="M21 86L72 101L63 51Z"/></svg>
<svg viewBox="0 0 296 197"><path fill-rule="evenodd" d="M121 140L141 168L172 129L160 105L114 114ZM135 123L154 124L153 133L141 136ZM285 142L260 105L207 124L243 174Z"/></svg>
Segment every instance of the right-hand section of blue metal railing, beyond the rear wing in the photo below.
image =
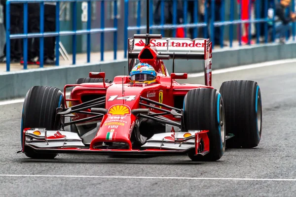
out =
<svg viewBox="0 0 296 197"><path fill-rule="evenodd" d="M124 4L124 10L125 10L125 24L124 24L124 37L127 38L128 37L128 33L130 31L137 31L137 33L139 33L141 30L145 30L146 29L146 24L142 24L140 23L140 18L141 18L141 12L138 10L137 12L137 25L136 26L129 26L128 25L128 21L129 21L129 15L126 14L129 11L129 7L130 7L130 2L138 2L138 9L141 7L140 2L143 0L124 0L125 4ZM223 48L223 41L224 41L224 27L225 26L229 26L229 44L230 47L233 47L233 33L234 33L234 26L238 26L238 43L239 45L242 45L242 25L244 24L249 24L247 33L248 33L248 43L249 45L252 44L251 40L252 40L252 34L251 34L251 24L255 24L256 27L256 43L259 43L259 37L260 36L260 24L263 24L263 33L264 33L264 42L267 43L268 41L268 29L270 27L268 27L268 22L272 23L272 39L271 41L274 42L274 35L275 35L275 28L274 28L274 16L272 18L268 18L267 15L267 11L268 8L275 8L270 7L269 6L269 2L270 0L255 0L255 2L253 2L253 0L248 0L249 4L254 5L254 13L255 13L255 18L251 19L251 6L249 6L249 19L242 19L242 15L241 15L241 10L242 10L242 0L239 0L239 6L238 9L235 8L234 4L235 4L235 0L221 0L221 4L219 5L218 9L216 9L217 4L215 3L216 0L205 0L204 2L204 7L207 7L207 5L210 2L210 6L205 9L205 13L203 15L204 20L200 21L198 17L200 17L200 13L199 13L199 4L198 1L199 0L182 0L183 3L183 20L184 22L182 24L178 24L178 19L177 19L177 3L180 2L179 0L150 0L150 5L153 6L153 2L157 2L160 1L160 6L159 6L159 13L160 13L160 21L159 24L154 24L152 18L150 19L150 31L152 30L159 30L160 33L164 36L165 32L164 30L172 30L173 32L173 36L176 35L176 29L177 28L185 28L185 37L187 30L189 28L192 28L192 35L191 38L195 38L197 37L197 33L198 33L198 28L203 28L203 37L205 38L210 38L210 40L213 42L213 47L215 45L215 41L217 41L217 39L215 40L215 29L219 28L220 29L220 34L219 34L219 42L220 42L220 46L221 48ZM189 12L189 7L188 7L188 3L193 1L193 18L191 18L190 23L188 23L187 20L187 14ZM277 0L275 0L277 1ZM236 1L237 2L237 1ZM172 23L171 24L166 24L165 23L165 13L168 12L168 9L165 7L165 3L170 3L172 6ZM225 21L224 17L225 17L225 3L227 3L230 7L230 12L229 12L229 20ZM156 3L157 4L157 3ZM264 4L263 7L263 17L259 16L261 15L261 10L260 7L261 5ZM295 2L294 0L292 0L292 11L295 11ZM191 7L192 8L192 7ZM153 12L155 9L149 9L149 15L152 16ZM239 11L240 10L240 11ZM192 9L191 9L192 11ZM220 12L219 16L219 20L215 20L215 15L219 14L219 12L217 13L217 11ZM238 17L235 19L234 17L234 13L237 13ZM210 29L210 31L208 32L208 29ZM295 23L293 23L293 36L295 36ZM209 34L210 35L209 35ZM294 39L294 38L293 38ZM127 39L124 39L124 49L126 49L128 46L127 43ZM127 51L124 50L124 58L127 58Z"/></svg>

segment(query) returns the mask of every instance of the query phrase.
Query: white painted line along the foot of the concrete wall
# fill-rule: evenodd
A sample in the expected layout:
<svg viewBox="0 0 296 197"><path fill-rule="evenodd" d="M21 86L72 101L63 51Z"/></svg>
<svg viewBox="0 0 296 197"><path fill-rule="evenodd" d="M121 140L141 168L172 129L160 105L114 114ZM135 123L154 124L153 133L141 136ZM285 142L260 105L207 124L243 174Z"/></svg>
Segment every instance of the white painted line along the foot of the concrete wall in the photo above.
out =
<svg viewBox="0 0 296 197"><path fill-rule="evenodd" d="M258 63L258 64L252 64L252 65L217 69L217 70L213 70L212 74L220 74L225 72L233 72L238 70L246 70L246 69L258 68L258 67L264 67L264 66L275 66L275 65L288 64L288 63L296 63L296 59L277 60L272 62L264 62L264 63ZM204 76L204 72L188 74L188 78L203 77L203 76ZM67 93L66 95L69 96L70 93ZM3 100L3 101L0 101L0 105L14 104L19 102L24 102L24 99Z"/></svg>

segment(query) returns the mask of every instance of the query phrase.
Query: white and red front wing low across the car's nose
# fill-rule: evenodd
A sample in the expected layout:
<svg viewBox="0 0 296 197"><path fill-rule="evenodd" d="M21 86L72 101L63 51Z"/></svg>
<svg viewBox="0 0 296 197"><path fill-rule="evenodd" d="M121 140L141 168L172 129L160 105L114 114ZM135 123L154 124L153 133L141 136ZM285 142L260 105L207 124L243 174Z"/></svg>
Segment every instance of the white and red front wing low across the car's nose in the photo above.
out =
<svg viewBox="0 0 296 197"><path fill-rule="evenodd" d="M77 133L25 129L21 152L68 153L98 155L185 155L194 151L205 155L210 151L208 131L165 132L153 135L140 149L93 149L82 143Z"/></svg>

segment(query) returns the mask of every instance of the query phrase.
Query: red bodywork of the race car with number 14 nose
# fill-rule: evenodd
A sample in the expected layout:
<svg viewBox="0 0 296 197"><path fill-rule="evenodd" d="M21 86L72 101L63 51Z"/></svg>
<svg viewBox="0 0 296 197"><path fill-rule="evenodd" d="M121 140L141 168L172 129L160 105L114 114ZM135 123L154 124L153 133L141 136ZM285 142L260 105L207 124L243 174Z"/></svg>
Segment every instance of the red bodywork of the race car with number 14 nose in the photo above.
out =
<svg viewBox="0 0 296 197"><path fill-rule="evenodd" d="M148 98L169 106L183 108L183 99L187 92L191 89L196 88L213 88L211 87L211 58L212 58L212 47L211 43L205 39L204 47L204 60L205 60L205 84L206 85L198 85L198 84L180 84L175 79L172 79L170 75L168 75L168 71L164 66L162 60L157 59L157 52L150 48L150 45L147 45L140 52L138 58L141 63L148 63L153 66L157 73L156 83L153 85L146 86L135 86L131 84L129 76L116 76L113 79L111 84L105 83L85 83L79 85L66 85L64 88L64 99L65 104L67 106L67 101L71 103L71 106L75 106L83 103L83 97L92 96L95 98L106 96L106 104L105 108L108 109L108 113L104 115L103 118L92 120L90 122L99 122L101 121L101 125L99 130L97 131L96 136L90 143L89 149L80 149L80 148L59 148L59 149L51 149L51 150L68 150L68 153L72 153L71 151L78 152L178 152L178 151L169 151L169 150L159 150L159 149L146 149L146 150L134 150L132 148L132 143L130 140L131 132L133 131L133 127L135 126L135 122L137 117L131 113L133 109L139 108L148 108L146 106L140 105L140 97ZM153 55L153 59L141 59L141 53L144 50L150 50ZM187 74L185 73L184 76ZM174 75L175 76L175 75ZM182 77L181 77L182 78ZM185 77L186 78L186 77ZM105 78L104 78L105 81ZM71 92L71 99L66 99L66 89L74 87ZM180 101L177 101L179 98ZM146 103L144 101L144 103ZM68 104L69 105L69 104ZM159 106L156 106L159 107ZM164 108L164 107L162 107ZM84 111L91 112L90 109L86 109ZM161 113L157 109L150 108L151 112ZM75 117L72 118L73 121L91 117L93 115L88 114L78 114L74 113ZM181 120L178 118L174 118L172 115L166 115L165 117L170 118L173 121L180 122ZM87 124L88 122L84 122L81 124ZM205 141L205 150L209 151L209 139L207 137L207 131L202 131L200 133L196 133L195 137L197 139L195 145L196 154L197 147L199 147L200 139L203 138ZM123 142L128 144L128 150L118 150L118 149L98 149L96 146L103 142ZM62 150L61 150L62 151ZM59 152L59 151L58 151ZM179 151L184 152L184 151Z"/></svg>

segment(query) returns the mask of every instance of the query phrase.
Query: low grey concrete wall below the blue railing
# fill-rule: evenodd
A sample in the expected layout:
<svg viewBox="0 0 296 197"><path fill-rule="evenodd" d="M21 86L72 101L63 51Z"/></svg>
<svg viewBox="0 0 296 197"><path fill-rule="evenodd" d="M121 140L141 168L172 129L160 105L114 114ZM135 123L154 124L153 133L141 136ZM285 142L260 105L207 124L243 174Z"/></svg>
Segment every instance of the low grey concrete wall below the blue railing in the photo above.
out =
<svg viewBox="0 0 296 197"><path fill-rule="evenodd" d="M296 43L266 44L245 46L239 49L222 49L213 52L213 69L255 64L279 59L296 58ZM169 72L172 71L172 60L165 61ZM81 66L61 66L37 68L16 72L0 73L0 99L24 97L27 91L36 85L58 87L74 84L77 78L88 77L90 71L105 71L106 78L127 74L127 60L110 63L94 63ZM194 73L203 71L203 61L176 60L175 72Z"/></svg>

